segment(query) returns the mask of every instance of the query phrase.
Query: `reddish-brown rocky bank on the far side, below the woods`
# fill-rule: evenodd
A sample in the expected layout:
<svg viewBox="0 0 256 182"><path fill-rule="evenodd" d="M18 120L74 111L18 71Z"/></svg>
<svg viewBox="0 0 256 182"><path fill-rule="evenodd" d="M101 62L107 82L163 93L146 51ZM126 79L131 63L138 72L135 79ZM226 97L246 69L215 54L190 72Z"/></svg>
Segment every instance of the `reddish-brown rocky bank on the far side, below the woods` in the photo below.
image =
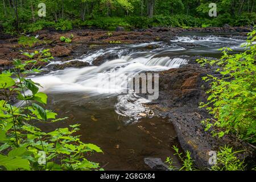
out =
<svg viewBox="0 0 256 182"><path fill-rule="evenodd" d="M38 49L50 49L52 56L57 61L65 61L75 59L90 51L97 49L104 49L108 47L115 47L119 44L138 44L148 42L168 42L174 39L175 36L185 31L200 31L200 32L240 32L241 35L251 31L250 27L221 27L221 28L164 28L154 27L147 30L135 31L118 31L111 32L102 30L72 30L68 32L57 32L51 30L42 30L34 32L29 36L35 36L39 39L31 47L22 46L18 44L18 37L5 35L0 33L0 68L10 68L13 64L13 59L24 60L27 59L20 53L34 52ZM60 37L69 37L73 35L72 43L61 42ZM154 47L148 46L148 49ZM108 59L108 55L100 57L95 60L95 65L100 65ZM77 63L77 62L76 62ZM47 63L42 64L43 67ZM67 65L68 67L70 66ZM81 67L82 64L73 64L73 67Z"/></svg>

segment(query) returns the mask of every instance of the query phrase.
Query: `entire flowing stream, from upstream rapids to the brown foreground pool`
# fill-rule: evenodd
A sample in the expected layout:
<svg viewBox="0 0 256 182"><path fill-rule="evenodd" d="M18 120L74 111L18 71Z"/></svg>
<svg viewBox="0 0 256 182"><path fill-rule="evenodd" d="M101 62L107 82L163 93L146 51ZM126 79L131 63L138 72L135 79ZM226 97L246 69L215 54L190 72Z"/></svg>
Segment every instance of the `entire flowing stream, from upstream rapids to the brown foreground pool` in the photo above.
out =
<svg viewBox="0 0 256 182"><path fill-rule="evenodd" d="M189 33L168 43L124 45L89 52L77 60L90 63L90 67L67 68L32 77L43 86L40 91L48 94L47 109L56 111L60 117L69 117L67 121L41 127L51 131L79 123L82 141L97 144L104 151L104 154L88 156L89 159L110 170L148 169L144 158L165 161L174 152L171 147L179 143L171 123L154 117L143 105L150 100L132 90L122 94L127 90L128 75L179 68L197 55L218 58L219 48L230 47L238 52L245 43L236 35L228 38L225 34ZM118 59L108 60L98 67L93 65L93 60L106 54L117 55ZM53 61L49 67L67 62ZM179 161L174 160L179 166Z"/></svg>

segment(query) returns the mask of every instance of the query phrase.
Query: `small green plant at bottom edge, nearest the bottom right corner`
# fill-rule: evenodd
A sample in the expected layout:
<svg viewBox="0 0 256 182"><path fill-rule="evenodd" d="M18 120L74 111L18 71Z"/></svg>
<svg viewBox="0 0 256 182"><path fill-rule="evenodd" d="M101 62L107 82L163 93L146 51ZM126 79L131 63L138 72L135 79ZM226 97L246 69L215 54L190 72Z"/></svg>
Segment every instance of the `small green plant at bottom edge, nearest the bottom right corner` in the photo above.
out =
<svg viewBox="0 0 256 182"><path fill-rule="evenodd" d="M212 171L244 171L246 165L243 160L237 159L236 154L242 151L232 152L232 147L220 147L217 152L217 163L210 168Z"/></svg>

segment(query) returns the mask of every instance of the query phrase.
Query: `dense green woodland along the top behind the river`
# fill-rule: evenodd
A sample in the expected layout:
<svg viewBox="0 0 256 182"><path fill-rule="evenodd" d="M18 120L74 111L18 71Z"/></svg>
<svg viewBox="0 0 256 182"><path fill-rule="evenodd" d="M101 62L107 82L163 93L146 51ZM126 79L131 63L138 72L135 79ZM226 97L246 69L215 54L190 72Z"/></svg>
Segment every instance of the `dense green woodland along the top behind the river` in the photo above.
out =
<svg viewBox="0 0 256 182"><path fill-rule="evenodd" d="M217 16L210 17L209 4ZM38 16L45 3L46 16ZM2 0L0 28L13 34L46 27L56 30L97 27L126 30L167 27L251 26L256 20L255 0Z"/></svg>

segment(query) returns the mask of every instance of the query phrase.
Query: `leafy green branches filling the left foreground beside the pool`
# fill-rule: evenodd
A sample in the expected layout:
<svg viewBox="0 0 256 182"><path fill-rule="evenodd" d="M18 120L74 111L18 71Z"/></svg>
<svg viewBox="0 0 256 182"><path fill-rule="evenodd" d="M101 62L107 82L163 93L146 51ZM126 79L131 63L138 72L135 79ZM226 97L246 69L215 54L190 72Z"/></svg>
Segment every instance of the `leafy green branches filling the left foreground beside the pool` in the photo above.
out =
<svg viewBox="0 0 256 182"><path fill-rule="evenodd" d="M28 75L40 72L36 65L52 59L48 49L23 52L27 61L14 60L14 68L0 75L0 169L1 170L91 170L99 169L85 155L102 152L94 144L81 142L75 133L79 125L45 133L36 123L62 121L46 110L47 95ZM13 104L12 98L19 100Z"/></svg>

